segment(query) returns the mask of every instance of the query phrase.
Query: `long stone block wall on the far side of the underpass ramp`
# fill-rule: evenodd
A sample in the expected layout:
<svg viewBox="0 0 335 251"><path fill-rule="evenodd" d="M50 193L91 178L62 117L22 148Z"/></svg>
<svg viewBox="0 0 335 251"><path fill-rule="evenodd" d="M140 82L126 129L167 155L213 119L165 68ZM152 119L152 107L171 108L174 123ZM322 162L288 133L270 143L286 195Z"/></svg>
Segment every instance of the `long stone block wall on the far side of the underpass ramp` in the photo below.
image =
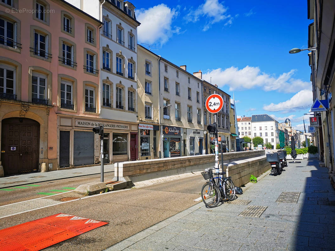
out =
<svg viewBox="0 0 335 251"><path fill-rule="evenodd" d="M255 158L265 155L264 150L223 153L223 162L230 163L241 159ZM196 155L175 158L126 161L114 164L114 180L125 180L130 177L132 182L160 178L182 173L203 171L214 166L215 155ZM221 155L219 155L221 163ZM255 175L255 174L254 174ZM256 175L255 175L256 176ZM250 177L250 175L249 175Z"/></svg>

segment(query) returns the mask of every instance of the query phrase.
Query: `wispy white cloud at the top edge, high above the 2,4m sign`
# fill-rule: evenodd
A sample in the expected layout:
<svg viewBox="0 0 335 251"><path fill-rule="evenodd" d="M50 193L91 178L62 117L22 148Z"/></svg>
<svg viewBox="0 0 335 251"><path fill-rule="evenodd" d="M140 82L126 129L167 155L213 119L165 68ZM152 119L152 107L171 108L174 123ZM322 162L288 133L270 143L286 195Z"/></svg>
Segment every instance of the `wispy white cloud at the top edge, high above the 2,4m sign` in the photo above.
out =
<svg viewBox="0 0 335 251"><path fill-rule="evenodd" d="M228 8L218 0L206 0L205 3L201 4L196 10L190 9L189 13L185 16L187 22L197 22L200 17L205 17L206 23L203 27L203 31L208 30L214 23L222 20L227 20L224 25L231 24L233 17L226 14Z"/></svg>

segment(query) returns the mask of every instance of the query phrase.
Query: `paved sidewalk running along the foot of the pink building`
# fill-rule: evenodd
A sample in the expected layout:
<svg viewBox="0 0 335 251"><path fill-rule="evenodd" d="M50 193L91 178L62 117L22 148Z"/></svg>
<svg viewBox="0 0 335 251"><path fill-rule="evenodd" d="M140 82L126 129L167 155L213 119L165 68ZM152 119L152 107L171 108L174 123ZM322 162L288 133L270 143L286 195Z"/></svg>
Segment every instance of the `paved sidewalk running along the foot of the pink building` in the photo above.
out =
<svg viewBox="0 0 335 251"><path fill-rule="evenodd" d="M44 173L25 173L0 178L0 188L38 183L49 180L79 177L91 174L100 174L101 166L81 167L74 169L57 170ZM104 173L114 172L114 164L104 165Z"/></svg>

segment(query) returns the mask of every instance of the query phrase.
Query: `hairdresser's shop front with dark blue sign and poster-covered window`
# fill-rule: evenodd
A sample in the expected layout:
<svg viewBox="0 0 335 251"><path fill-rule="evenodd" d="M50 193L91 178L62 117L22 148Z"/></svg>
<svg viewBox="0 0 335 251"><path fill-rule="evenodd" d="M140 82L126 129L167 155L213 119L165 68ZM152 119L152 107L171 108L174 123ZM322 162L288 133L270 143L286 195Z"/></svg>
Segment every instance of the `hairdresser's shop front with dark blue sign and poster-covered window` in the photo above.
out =
<svg viewBox="0 0 335 251"><path fill-rule="evenodd" d="M158 158L159 126L154 124L139 124L140 136L139 156L140 160Z"/></svg>

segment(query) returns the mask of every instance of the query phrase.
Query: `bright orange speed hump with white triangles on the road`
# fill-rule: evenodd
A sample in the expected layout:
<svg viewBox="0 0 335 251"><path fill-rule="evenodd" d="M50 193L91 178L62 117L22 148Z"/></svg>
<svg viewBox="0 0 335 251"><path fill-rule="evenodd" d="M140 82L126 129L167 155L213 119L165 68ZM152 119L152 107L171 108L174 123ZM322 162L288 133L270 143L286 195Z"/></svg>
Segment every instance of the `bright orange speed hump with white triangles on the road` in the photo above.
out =
<svg viewBox="0 0 335 251"><path fill-rule="evenodd" d="M1 251L37 251L108 224L56 214L0 230Z"/></svg>

